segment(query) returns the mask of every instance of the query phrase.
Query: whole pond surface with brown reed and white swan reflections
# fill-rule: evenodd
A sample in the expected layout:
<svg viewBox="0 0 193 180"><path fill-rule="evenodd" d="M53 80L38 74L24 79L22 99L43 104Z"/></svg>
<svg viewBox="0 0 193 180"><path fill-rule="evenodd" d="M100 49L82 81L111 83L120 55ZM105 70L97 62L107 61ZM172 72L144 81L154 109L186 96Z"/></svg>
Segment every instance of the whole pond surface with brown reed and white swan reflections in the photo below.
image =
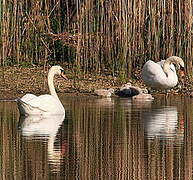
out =
<svg viewBox="0 0 193 180"><path fill-rule="evenodd" d="M192 180L193 99L61 100L65 117L47 118L0 102L2 180Z"/></svg>

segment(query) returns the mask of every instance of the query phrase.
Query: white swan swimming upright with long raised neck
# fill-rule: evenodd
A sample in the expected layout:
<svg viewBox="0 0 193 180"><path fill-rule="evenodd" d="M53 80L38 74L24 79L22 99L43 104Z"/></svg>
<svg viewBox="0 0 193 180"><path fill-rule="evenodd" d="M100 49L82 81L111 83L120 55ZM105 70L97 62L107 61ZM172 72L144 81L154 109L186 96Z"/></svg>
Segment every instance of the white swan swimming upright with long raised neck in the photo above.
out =
<svg viewBox="0 0 193 180"><path fill-rule="evenodd" d="M26 94L18 99L18 108L21 115L50 115L50 114L64 114L65 110L60 102L58 95L54 88L54 76L60 75L66 78L63 74L64 70L60 66L52 66L48 72L48 86L50 94L35 96L33 94Z"/></svg>

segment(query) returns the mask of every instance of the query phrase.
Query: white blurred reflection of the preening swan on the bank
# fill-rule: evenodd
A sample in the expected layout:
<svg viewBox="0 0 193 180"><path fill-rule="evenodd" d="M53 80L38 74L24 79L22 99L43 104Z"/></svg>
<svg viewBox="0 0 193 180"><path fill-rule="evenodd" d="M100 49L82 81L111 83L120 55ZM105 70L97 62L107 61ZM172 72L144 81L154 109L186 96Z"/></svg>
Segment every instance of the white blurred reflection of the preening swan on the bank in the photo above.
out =
<svg viewBox="0 0 193 180"><path fill-rule="evenodd" d="M176 107L163 107L142 113L148 138L173 139L177 135L178 112Z"/></svg>

